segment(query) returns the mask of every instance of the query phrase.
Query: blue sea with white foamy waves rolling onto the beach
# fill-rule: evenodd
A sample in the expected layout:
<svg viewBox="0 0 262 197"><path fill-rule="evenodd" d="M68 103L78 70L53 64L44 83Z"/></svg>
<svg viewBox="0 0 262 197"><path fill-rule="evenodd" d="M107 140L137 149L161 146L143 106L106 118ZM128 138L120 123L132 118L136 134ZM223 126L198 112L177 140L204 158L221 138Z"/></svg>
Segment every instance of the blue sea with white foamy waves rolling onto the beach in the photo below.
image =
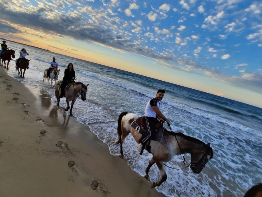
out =
<svg viewBox="0 0 262 197"><path fill-rule="evenodd" d="M165 167L167 180L156 187L158 192L166 196L244 196L250 187L262 182L261 108L47 50L10 41L7 44L16 50L16 58L25 48L27 58L31 59L25 78L15 72L16 58L10 62L8 74L47 91L53 96L54 105L55 90L47 81L43 82L43 72L55 57L60 69L58 78L62 79L68 63L73 63L76 81L89 84L87 99L76 100L73 116L77 122L88 125L115 156L120 155L120 146L115 144L119 114L129 111L142 116L157 90L166 90L160 110L170 119L172 130L210 143L214 155L200 174L194 174L190 168ZM60 105L66 107L65 98ZM143 176L152 155L147 151L139 155L132 135L127 136L123 153L126 165ZM185 158L190 162L189 154ZM180 155L166 165L185 167ZM151 181L161 178L156 165L151 167L149 175Z"/></svg>

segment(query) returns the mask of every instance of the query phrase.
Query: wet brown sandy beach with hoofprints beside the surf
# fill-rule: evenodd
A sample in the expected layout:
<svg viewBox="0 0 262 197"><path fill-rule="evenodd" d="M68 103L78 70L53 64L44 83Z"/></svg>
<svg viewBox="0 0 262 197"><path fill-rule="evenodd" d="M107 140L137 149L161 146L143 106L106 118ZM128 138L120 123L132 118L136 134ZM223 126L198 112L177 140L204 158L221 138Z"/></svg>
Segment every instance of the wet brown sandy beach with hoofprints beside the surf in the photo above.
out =
<svg viewBox="0 0 262 197"><path fill-rule="evenodd" d="M0 196L164 196L45 91L6 72L0 67Z"/></svg>

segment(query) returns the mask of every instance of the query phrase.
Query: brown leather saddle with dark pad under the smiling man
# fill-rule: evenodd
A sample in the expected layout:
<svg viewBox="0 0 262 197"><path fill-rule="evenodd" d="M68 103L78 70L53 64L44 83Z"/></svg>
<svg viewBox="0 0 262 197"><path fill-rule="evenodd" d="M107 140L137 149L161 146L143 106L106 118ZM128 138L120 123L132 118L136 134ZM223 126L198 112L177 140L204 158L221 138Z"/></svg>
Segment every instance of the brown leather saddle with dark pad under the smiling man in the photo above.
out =
<svg viewBox="0 0 262 197"><path fill-rule="evenodd" d="M146 127L146 122L145 122L145 116L138 117L135 119L135 121L131 124L131 127L133 127L137 132L142 134L141 139L139 139L139 143L142 142L142 140L148 135L148 130ZM155 126L156 128L156 134L151 135L150 139L161 142L162 137L163 137L163 132L164 128L162 127L162 123L158 122Z"/></svg>

